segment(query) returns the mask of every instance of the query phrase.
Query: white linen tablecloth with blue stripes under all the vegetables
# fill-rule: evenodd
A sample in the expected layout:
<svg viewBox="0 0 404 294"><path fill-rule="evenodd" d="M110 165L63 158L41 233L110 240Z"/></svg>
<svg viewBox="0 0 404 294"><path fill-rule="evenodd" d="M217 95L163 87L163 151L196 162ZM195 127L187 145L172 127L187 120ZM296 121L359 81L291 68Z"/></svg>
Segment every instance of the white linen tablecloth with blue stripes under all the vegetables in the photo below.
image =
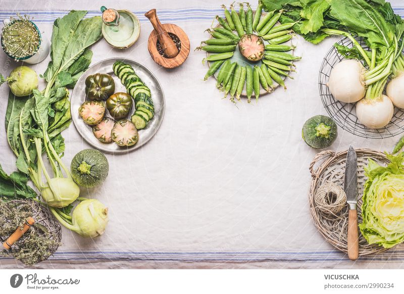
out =
<svg viewBox="0 0 404 294"><path fill-rule="evenodd" d="M227 6L231 1L225 2ZM129 9L141 22L138 41L127 50L105 40L93 47L92 63L127 57L149 68L166 96L164 121L139 150L106 155L110 172L103 185L81 189L83 197L109 207L106 233L84 239L63 230L63 245L37 268L402 268L404 247L350 262L316 230L309 214L309 164L318 151L301 139L304 122L326 114L318 90L323 57L337 40L313 45L297 36L297 73L287 79L287 91L262 96L258 105L245 100L235 107L222 100L208 70L204 52L193 52L208 38L222 2L172 1L1 1L0 17L30 14L48 37L52 23L68 11L99 7ZM255 9L257 1L251 2ZM404 14L400 1L392 1ZM147 39L153 29L143 14L156 8L162 23L175 23L188 34L191 52L177 69L166 70L149 56ZM33 65L43 73L49 57ZM0 52L1 73L16 66ZM43 85L42 85L43 86ZM0 89L1 164L16 169L6 139L4 119L8 86ZM389 151L397 138L364 139L338 129L335 151L356 148ZM73 125L63 132L70 164L80 150L91 148ZM23 268L13 259L0 259L0 268Z"/></svg>

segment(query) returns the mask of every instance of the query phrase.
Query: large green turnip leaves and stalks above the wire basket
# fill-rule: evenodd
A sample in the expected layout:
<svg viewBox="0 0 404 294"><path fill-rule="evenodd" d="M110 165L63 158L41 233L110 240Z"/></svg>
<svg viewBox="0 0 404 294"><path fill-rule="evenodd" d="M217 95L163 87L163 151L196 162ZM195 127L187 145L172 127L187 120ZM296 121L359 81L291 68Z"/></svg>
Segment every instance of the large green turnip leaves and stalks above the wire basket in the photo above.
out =
<svg viewBox="0 0 404 294"><path fill-rule="evenodd" d="M348 37L354 46L336 45L348 59L362 60L366 99L379 99L390 74L404 71L401 51L404 22L384 0L262 0L266 11L284 10L281 23L296 22L293 30L317 44L329 35ZM354 38L363 37L366 51Z"/></svg>

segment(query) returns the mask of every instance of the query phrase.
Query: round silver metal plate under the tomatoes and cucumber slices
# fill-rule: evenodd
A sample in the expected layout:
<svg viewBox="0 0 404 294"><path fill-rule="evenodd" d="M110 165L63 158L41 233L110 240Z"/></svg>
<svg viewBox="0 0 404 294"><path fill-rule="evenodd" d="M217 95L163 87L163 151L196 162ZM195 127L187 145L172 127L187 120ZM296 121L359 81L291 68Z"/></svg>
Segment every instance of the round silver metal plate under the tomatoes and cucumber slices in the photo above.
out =
<svg viewBox="0 0 404 294"><path fill-rule="evenodd" d="M98 139L93 135L91 126L87 125L79 116L79 108L85 101L85 79L92 74L95 73L107 73L114 78L115 81L115 92L126 92L125 86L122 85L121 80L114 74L112 70L112 65L116 61L122 61L127 63L133 67L136 74L141 78L141 80L150 88L151 99L153 99L154 107L155 107L155 115L153 119L151 119L146 128L139 130L139 140L133 146L129 147L121 147L118 144L112 143L102 143L98 141ZM147 143L159 129L161 122L164 117L164 110L166 108L164 93L161 88L159 81L156 76L151 73L149 69L145 66L141 65L137 61L126 59L126 58L110 58L103 61L100 61L90 68L79 78L76 83L76 86L73 89L73 93L71 96L71 105L70 111L72 113L72 119L74 126L76 127L79 134L86 140L90 145L94 148L105 151L108 153L128 153L129 151L136 150L140 148L140 146ZM108 115L108 110L106 110ZM132 106L132 110L129 112L130 116L134 113L134 106Z"/></svg>

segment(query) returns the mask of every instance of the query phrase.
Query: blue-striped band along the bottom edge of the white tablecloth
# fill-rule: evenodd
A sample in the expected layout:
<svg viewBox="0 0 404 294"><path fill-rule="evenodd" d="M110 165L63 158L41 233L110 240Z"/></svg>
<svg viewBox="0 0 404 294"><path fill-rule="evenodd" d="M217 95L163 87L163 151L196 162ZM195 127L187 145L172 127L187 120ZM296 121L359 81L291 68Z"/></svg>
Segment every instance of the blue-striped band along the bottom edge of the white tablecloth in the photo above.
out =
<svg viewBox="0 0 404 294"><path fill-rule="evenodd" d="M11 260L11 257L1 260ZM347 260L339 251L58 251L49 261L159 261L159 262L299 262L318 263ZM404 250L361 257L359 261L404 262Z"/></svg>

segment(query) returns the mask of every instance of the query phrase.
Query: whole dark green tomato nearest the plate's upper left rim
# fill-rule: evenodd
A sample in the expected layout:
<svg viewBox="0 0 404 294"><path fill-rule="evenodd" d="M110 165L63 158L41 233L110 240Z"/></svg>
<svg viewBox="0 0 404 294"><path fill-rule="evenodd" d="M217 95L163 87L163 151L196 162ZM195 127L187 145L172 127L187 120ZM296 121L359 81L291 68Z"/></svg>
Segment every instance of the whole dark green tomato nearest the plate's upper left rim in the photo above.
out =
<svg viewBox="0 0 404 294"><path fill-rule="evenodd" d="M85 79L88 100L107 100L115 92L115 82L109 74L96 73Z"/></svg>

